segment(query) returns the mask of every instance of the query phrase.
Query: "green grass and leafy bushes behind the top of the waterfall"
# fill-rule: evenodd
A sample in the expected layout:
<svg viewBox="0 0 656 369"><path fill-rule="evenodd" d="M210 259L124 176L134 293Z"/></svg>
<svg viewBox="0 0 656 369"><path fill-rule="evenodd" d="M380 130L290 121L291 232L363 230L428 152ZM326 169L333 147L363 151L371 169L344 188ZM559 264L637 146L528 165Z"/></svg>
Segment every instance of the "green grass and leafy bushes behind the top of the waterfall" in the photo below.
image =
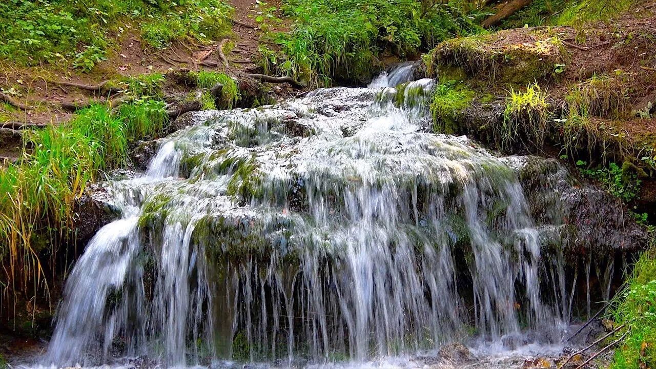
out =
<svg viewBox="0 0 656 369"><path fill-rule="evenodd" d="M279 53L262 45L260 64L311 86L371 76L383 50L413 55L476 30L459 9L434 0L288 0L283 11L295 24L265 37Z"/></svg>

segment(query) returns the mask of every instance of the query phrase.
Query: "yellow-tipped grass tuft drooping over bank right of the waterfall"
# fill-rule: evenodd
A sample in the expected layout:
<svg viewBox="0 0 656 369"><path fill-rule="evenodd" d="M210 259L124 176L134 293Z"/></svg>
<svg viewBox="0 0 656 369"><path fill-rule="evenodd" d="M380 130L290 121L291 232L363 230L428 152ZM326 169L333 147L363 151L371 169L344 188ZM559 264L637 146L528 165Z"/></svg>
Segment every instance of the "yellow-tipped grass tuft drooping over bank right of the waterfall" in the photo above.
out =
<svg viewBox="0 0 656 369"><path fill-rule="evenodd" d="M498 136L502 148L510 148L523 139L537 147L543 146L550 123L546 97L537 83L527 85L524 91L510 89Z"/></svg>

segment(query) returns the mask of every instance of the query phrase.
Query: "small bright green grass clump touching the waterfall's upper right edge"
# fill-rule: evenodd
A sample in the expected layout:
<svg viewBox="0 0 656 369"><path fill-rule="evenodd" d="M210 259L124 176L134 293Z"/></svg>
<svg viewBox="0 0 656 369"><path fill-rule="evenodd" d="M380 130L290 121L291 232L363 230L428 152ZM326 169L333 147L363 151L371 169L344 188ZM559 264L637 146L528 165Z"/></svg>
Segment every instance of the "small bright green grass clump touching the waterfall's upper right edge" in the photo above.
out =
<svg viewBox="0 0 656 369"><path fill-rule="evenodd" d="M474 99L474 91L470 91L456 81L447 81L437 85L430 102L430 112L433 116L434 130L440 133L457 133L456 118L470 106Z"/></svg>

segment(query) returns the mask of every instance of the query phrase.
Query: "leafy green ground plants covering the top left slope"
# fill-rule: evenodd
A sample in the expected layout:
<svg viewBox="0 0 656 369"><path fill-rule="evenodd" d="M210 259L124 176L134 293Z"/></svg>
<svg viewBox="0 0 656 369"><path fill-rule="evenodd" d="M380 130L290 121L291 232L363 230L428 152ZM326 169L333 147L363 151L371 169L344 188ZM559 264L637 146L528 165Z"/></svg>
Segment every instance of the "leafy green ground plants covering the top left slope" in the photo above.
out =
<svg viewBox="0 0 656 369"><path fill-rule="evenodd" d="M8 0L0 2L0 60L43 62L89 72L127 33L151 47L209 41L230 33L232 9L220 0Z"/></svg>

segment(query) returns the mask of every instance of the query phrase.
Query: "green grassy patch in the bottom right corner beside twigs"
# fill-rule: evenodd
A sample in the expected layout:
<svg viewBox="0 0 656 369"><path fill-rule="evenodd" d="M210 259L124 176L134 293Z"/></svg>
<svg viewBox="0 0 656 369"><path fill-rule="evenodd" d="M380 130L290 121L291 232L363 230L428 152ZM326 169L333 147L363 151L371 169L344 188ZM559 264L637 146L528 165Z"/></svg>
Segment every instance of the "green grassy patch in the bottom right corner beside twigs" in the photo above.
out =
<svg viewBox="0 0 656 369"><path fill-rule="evenodd" d="M652 242L653 244L653 242ZM611 318L625 324L613 339L626 334L615 350L611 369L653 368L656 364L656 251L644 252L611 304Z"/></svg>

